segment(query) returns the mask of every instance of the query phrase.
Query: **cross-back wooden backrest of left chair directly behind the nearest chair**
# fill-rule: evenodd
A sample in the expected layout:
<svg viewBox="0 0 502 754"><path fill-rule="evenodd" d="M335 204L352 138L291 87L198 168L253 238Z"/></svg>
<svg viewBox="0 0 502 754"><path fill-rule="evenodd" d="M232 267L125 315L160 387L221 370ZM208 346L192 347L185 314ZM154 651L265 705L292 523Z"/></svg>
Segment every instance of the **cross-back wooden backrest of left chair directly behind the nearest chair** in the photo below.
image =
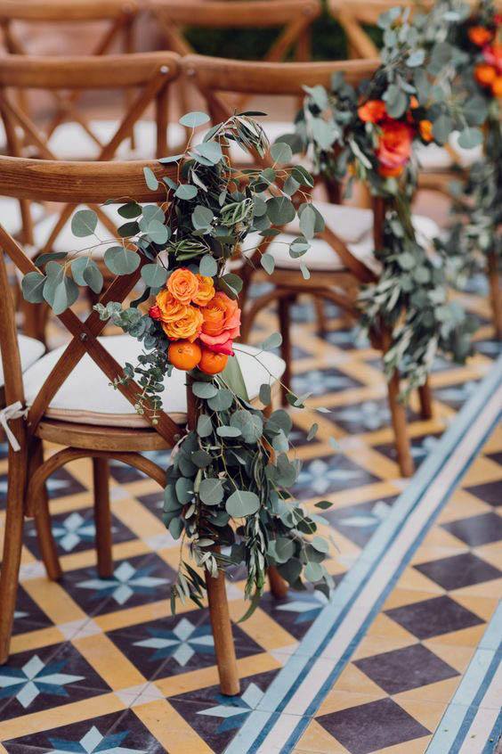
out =
<svg viewBox="0 0 502 754"><path fill-rule="evenodd" d="M0 58L0 114L4 121L6 151L13 157L36 156L45 160L57 160L51 139L54 126L64 121L73 122L82 135L92 140L96 148L96 160L112 160L117 149L134 135L134 125L151 106L155 106L155 131L151 156L167 153L168 89L179 73L179 58L175 53L132 53L130 55L86 56L72 58L34 57L29 55L6 55ZM50 119L45 127L20 107L17 94L33 90L49 91L60 97L61 110L56 119ZM106 91L129 94L120 97L123 103L122 117L117 125L111 122L108 141L95 133L95 126L83 108L78 108L74 94L90 91ZM64 93L64 94L62 94ZM85 133L84 133L85 132ZM101 222L109 225L101 210L97 210ZM69 218L71 209L66 207L45 243L51 248ZM26 202L21 204L24 240L32 242L33 228ZM110 227L111 230L114 230Z"/></svg>

